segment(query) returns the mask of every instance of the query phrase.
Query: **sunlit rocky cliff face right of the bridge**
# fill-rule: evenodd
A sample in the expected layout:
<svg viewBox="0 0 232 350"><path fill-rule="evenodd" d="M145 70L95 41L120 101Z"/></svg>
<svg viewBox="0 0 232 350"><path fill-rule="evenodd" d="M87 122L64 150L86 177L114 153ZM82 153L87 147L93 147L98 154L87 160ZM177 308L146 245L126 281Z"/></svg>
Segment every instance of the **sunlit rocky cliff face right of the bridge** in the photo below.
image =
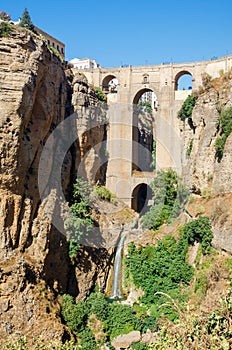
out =
<svg viewBox="0 0 232 350"><path fill-rule="evenodd" d="M199 94L192 113L191 127L185 121L182 132L185 159L186 151L192 143L183 176L193 193L203 196L203 203L197 200L195 209L191 209L192 214L204 214L211 218L214 230L213 244L230 253L232 253L232 134L226 140L221 161L216 157L215 143L220 134L218 130L220 113L231 106L232 74L227 73L212 80Z"/></svg>

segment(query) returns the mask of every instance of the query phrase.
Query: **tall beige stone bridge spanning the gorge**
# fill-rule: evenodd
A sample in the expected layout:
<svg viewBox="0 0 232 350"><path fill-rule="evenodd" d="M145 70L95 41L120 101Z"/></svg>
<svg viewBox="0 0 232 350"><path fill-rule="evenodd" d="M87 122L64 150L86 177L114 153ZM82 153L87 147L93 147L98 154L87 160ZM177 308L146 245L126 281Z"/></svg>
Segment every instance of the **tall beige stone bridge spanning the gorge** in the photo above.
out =
<svg viewBox="0 0 232 350"><path fill-rule="evenodd" d="M202 85L204 73L215 78L221 71L227 72L231 67L232 56L226 56L201 62L82 71L90 84L100 87L107 94L110 118L107 188L137 211L141 210L141 203L147 200L146 189L154 173L146 166L144 169L138 166L140 145L136 136L138 118L135 113L135 105L144 92L152 91L156 97L152 106L156 169L173 168L181 175L186 150L182 149L183 123L177 118L178 111L186 97ZM179 89L179 79L183 75L192 78L190 89ZM110 86L112 79L118 82L116 88ZM147 151L148 148L140 152L144 160L149 158Z"/></svg>

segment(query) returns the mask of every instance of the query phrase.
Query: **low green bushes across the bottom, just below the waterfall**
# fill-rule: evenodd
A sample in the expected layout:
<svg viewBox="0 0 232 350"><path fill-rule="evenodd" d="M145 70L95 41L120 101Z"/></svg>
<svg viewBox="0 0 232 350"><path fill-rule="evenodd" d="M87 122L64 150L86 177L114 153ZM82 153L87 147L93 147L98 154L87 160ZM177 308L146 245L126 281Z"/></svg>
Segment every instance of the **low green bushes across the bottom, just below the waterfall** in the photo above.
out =
<svg viewBox="0 0 232 350"><path fill-rule="evenodd" d="M66 294L62 299L62 316L76 338L81 338L81 346L83 346L83 335L88 334L92 337L90 324L93 319L101 322L104 341L133 330L146 332L148 328L156 327L154 317L148 316L147 313L141 314L136 308L129 305L109 303L104 294L99 292L90 294L85 303L75 303L73 298ZM91 339L92 348L84 346L83 348L86 350L99 349L100 344L96 344L93 337Z"/></svg>

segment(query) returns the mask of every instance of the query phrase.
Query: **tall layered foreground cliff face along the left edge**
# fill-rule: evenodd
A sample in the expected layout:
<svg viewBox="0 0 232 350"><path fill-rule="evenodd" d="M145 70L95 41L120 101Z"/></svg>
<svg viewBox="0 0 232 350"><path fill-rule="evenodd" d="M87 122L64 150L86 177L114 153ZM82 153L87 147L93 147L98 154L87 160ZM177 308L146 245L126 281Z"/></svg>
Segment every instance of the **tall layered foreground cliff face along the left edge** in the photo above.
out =
<svg viewBox="0 0 232 350"><path fill-rule="evenodd" d="M45 214L54 202L41 203L37 174L43 145L67 113L69 84L58 58L26 31L1 39L0 84L0 332L61 339L59 305L41 277L51 278L53 255L66 287L67 245Z"/></svg>

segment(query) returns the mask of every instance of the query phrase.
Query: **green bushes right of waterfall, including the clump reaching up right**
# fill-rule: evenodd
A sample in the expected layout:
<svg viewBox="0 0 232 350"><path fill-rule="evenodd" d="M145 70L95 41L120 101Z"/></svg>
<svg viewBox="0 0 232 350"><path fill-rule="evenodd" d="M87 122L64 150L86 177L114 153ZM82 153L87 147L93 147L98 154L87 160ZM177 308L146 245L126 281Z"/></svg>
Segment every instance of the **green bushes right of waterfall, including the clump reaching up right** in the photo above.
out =
<svg viewBox="0 0 232 350"><path fill-rule="evenodd" d="M193 268L186 260L189 245L201 243L205 255L210 252L212 238L209 218L199 217L180 229L178 241L167 235L158 241L156 247L136 249L131 243L126 266L135 286L144 291L141 301L150 307L155 318L159 319L164 314L174 320L178 316L175 304L170 304L169 299L179 302L186 299L181 285L187 286L193 276Z"/></svg>

